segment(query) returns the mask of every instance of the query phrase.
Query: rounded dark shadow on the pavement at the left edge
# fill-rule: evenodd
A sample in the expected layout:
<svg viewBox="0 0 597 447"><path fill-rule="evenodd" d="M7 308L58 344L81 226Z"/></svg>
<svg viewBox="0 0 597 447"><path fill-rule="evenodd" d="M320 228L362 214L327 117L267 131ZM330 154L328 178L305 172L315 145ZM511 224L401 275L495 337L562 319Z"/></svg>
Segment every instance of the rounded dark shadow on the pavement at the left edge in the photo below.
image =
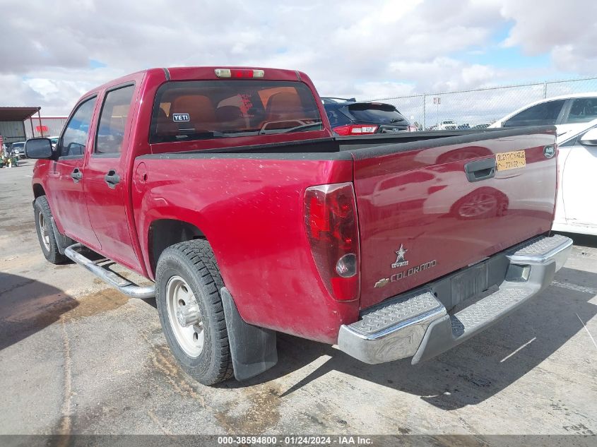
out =
<svg viewBox="0 0 597 447"><path fill-rule="evenodd" d="M0 350L58 321L78 302L51 285L0 273Z"/></svg>

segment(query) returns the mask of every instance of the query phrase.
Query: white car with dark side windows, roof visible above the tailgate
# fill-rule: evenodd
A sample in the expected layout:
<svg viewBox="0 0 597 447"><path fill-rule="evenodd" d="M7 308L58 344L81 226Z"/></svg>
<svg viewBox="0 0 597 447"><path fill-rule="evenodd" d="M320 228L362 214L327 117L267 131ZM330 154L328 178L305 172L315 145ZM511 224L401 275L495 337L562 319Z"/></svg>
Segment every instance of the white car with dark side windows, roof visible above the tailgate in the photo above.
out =
<svg viewBox="0 0 597 447"><path fill-rule="evenodd" d="M489 127L554 125L557 128L557 139L562 141L562 138L567 139L593 119L597 119L597 92L548 97L531 102L498 119Z"/></svg>

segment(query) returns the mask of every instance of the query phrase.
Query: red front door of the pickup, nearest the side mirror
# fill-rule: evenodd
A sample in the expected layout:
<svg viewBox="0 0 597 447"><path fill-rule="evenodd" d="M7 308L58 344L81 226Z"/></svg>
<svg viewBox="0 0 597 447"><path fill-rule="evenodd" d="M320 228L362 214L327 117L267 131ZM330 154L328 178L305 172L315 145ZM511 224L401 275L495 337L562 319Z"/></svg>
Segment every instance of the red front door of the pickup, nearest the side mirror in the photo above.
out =
<svg viewBox="0 0 597 447"><path fill-rule="evenodd" d="M90 126L97 96L88 97L76 108L57 143L57 159L47 178L52 213L64 233L92 249L100 242L92 230L85 205L83 160L90 147Z"/></svg>

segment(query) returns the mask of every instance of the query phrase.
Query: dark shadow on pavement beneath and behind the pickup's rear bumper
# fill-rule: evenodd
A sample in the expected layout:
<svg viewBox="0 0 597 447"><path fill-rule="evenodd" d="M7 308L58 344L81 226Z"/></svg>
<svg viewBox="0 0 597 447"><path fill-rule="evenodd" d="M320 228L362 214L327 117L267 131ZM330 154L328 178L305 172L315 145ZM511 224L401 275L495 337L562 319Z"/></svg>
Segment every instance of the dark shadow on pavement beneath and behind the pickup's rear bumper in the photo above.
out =
<svg viewBox="0 0 597 447"><path fill-rule="evenodd" d="M584 331L583 323L597 314L596 304L589 302L596 295L597 274L562 268L555 280L563 285L568 280L584 287L574 290L552 285L495 326L416 366L410 364L410 359L379 365L363 364L331 346L279 334L278 364L261 376L227 386L244 387L278 379L326 355L330 358L324 364L280 397L332 371L340 371L419 395L422 400L443 410L476 405L533 370L579 331ZM594 349L589 335L583 336L587 357L578 359L579 363L591 362L590 353Z"/></svg>

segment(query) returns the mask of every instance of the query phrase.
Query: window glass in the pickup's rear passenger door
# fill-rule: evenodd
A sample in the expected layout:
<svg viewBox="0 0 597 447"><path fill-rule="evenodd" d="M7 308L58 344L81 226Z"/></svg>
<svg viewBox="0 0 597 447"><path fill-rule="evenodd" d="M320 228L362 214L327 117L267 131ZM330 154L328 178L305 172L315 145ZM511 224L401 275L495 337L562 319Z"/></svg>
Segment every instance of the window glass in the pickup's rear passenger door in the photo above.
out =
<svg viewBox="0 0 597 447"><path fill-rule="evenodd" d="M117 157L122 152L126 119L129 117L134 91L134 85L127 85L106 93L97 126L96 154L114 154Z"/></svg>

